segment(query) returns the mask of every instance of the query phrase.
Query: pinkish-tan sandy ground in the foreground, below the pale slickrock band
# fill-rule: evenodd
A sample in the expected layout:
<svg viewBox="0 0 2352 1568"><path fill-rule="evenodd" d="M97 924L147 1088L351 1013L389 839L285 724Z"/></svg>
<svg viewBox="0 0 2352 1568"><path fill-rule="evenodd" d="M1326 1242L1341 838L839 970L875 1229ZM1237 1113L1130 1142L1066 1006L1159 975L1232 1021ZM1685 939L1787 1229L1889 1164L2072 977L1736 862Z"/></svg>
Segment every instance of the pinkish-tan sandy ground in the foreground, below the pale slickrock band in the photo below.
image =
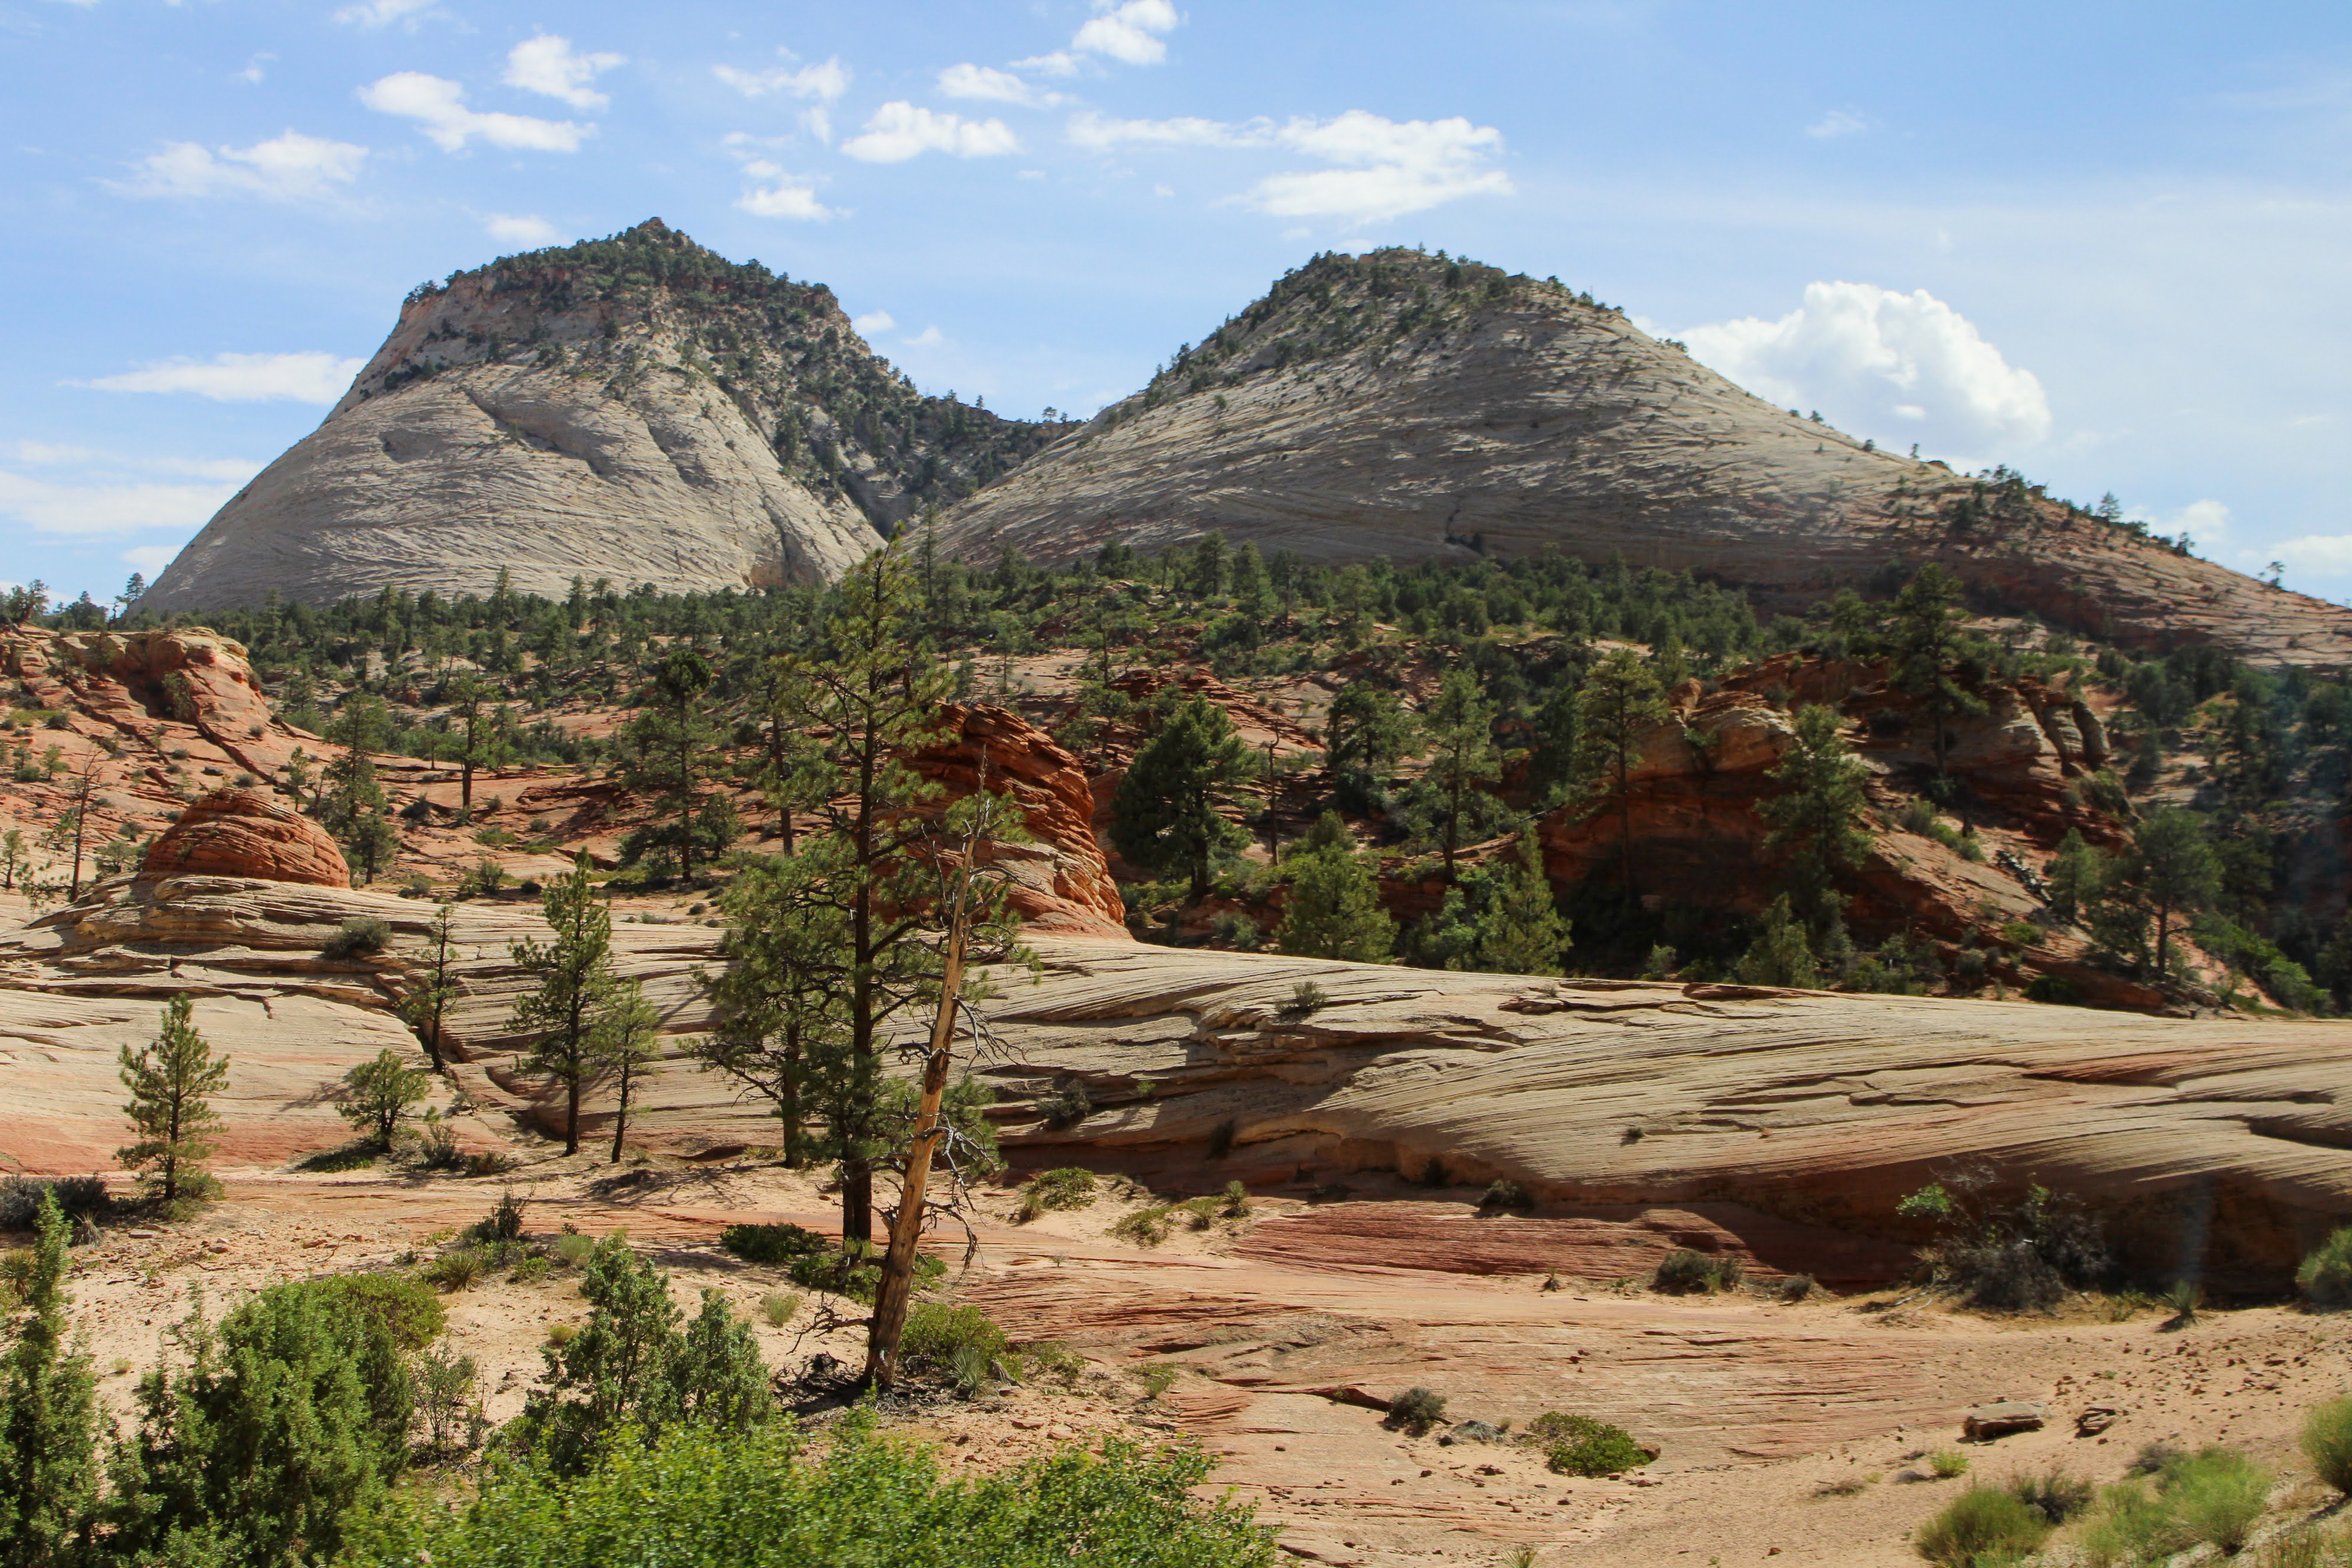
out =
<svg viewBox="0 0 2352 1568"><path fill-rule="evenodd" d="M626 1229L673 1269L682 1305L722 1291L779 1371L858 1354L856 1328L811 1333L828 1300L715 1246L739 1218L830 1229L837 1213L804 1173L527 1157L508 1178L470 1180L390 1166L223 1175L226 1201L188 1225L111 1229L75 1248L75 1324L118 1406L193 1300L219 1314L275 1279L430 1255L501 1187L527 1201L532 1234ZM1058 1340L1082 1368L948 1401L910 1425L955 1465L1004 1465L1101 1432L1197 1439L1221 1460L1216 1483L1258 1505L1308 1561L1501 1563L1524 1544L1559 1568L1915 1563L1910 1530L1962 1486L1929 1479L1924 1455L1938 1448L1959 1448L1971 1474L1994 1481L2046 1465L2110 1481L2143 1443L2227 1441L2279 1467L2281 1512L2310 1512L2324 1500L2293 1486L2293 1434L2352 1375L2352 1321L2286 1307L2209 1309L2169 1331L2161 1312L2107 1321L2091 1302L2004 1321L1922 1300L1870 1309L1889 1295L1783 1305L1604 1281L1545 1288L1322 1253L1287 1260L1284 1222L1308 1206L1284 1197L1256 1201L1247 1220L1178 1227L1157 1248L1108 1237L1136 1204L1105 1197L1018 1225L1011 1192L981 1194L976 1260L964 1267L962 1237L936 1239L950 1288L1016 1340ZM781 1328L757 1316L776 1291L804 1298ZM856 1316L851 1302L830 1305ZM494 1420L522 1408L550 1328L586 1316L564 1269L494 1276L447 1307L449 1342L482 1368ZM1160 1396L1150 1366L1174 1368ZM1444 1394L1454 1420L1599 1415L1661 1458L1623 1479L1562 1479L1531 1448L1383 1429L1374 1406L1411 1385ZM1962 1413L2002 1396L2049 1401L2051 1427L1962 1446ZM2093 1403L2124 1415L2074 1436L2074 1415Z"/></svg>

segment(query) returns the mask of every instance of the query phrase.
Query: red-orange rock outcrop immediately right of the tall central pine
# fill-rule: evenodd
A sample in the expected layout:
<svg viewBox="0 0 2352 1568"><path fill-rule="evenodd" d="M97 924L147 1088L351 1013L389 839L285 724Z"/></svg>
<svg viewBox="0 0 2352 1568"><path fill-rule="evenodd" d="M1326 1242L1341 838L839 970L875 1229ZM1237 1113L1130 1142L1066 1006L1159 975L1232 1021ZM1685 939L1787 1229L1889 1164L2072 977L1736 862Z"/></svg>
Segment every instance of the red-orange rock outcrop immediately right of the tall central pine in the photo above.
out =
<svg viewBox="0 0 2352 1568"><path fill-rule="evenodd" d="M1021 922L1063 936L1127 936L1127 903L1094 842L1094 790L1077 757L1002 708L948 705L955 738L915 757L915 769L953 797L988 785L1021 804L1030 844L997 844L990 863L1011 877Z"/></svg>

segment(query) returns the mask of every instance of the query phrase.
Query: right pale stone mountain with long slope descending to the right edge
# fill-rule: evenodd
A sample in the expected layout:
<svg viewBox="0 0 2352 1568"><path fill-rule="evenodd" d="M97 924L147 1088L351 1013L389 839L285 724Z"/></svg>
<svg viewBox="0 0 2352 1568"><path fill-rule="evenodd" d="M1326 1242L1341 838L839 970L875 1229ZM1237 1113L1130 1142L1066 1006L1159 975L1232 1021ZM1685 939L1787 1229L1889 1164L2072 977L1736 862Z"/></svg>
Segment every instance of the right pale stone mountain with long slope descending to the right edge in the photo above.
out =
<svg viewBox="0 0 2352 1568"><path fill-rule="evenodd" d="M1442 252L1289 273L962 503L943 543L983 564L1004 548L1070 562L1207 529L1317 562L1623 552L1780 607L1940 559L1987 599L2133 649L2352 663L2352 611L2006 470L1875 451L1588 294Z"/></svg>

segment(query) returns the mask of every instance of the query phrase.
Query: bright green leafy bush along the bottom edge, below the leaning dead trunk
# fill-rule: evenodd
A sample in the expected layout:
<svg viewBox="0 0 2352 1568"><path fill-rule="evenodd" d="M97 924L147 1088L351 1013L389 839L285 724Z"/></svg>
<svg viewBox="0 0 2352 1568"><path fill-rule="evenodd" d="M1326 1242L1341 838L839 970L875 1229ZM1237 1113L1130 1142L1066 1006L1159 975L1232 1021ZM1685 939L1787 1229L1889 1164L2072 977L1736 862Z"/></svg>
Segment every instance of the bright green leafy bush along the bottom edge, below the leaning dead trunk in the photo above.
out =
<svg viewBox="0 0 2352 1568"><path fill-rule="evenodd" d="M786 1427L684 1427L614 1446L576 1481L534 1465L494 1469L470 1505L423 1495L379 1509L360 1568L1270 1568L1272 1533L1247 1509L1195 1502L1197 1450L1105 1443L1021 1469L948 1481L934 1458L863 1420L809 1455Z"/></svg>

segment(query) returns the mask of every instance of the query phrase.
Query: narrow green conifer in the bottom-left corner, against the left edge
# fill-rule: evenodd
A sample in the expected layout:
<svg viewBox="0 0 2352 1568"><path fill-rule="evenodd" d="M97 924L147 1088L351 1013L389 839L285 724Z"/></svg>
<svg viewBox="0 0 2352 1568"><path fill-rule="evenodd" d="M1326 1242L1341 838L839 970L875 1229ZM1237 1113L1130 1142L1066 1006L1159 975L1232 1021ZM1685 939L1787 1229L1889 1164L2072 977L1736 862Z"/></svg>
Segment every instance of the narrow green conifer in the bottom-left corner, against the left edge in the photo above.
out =
<svg viewBox="0 0 2352 1568"><path fill-rule="evenodd" d="M0 1363L0 1568L82 1561L96 1514L96 1378L66 1352L66 1215L40 1197L26 1319Z"/></svg>

